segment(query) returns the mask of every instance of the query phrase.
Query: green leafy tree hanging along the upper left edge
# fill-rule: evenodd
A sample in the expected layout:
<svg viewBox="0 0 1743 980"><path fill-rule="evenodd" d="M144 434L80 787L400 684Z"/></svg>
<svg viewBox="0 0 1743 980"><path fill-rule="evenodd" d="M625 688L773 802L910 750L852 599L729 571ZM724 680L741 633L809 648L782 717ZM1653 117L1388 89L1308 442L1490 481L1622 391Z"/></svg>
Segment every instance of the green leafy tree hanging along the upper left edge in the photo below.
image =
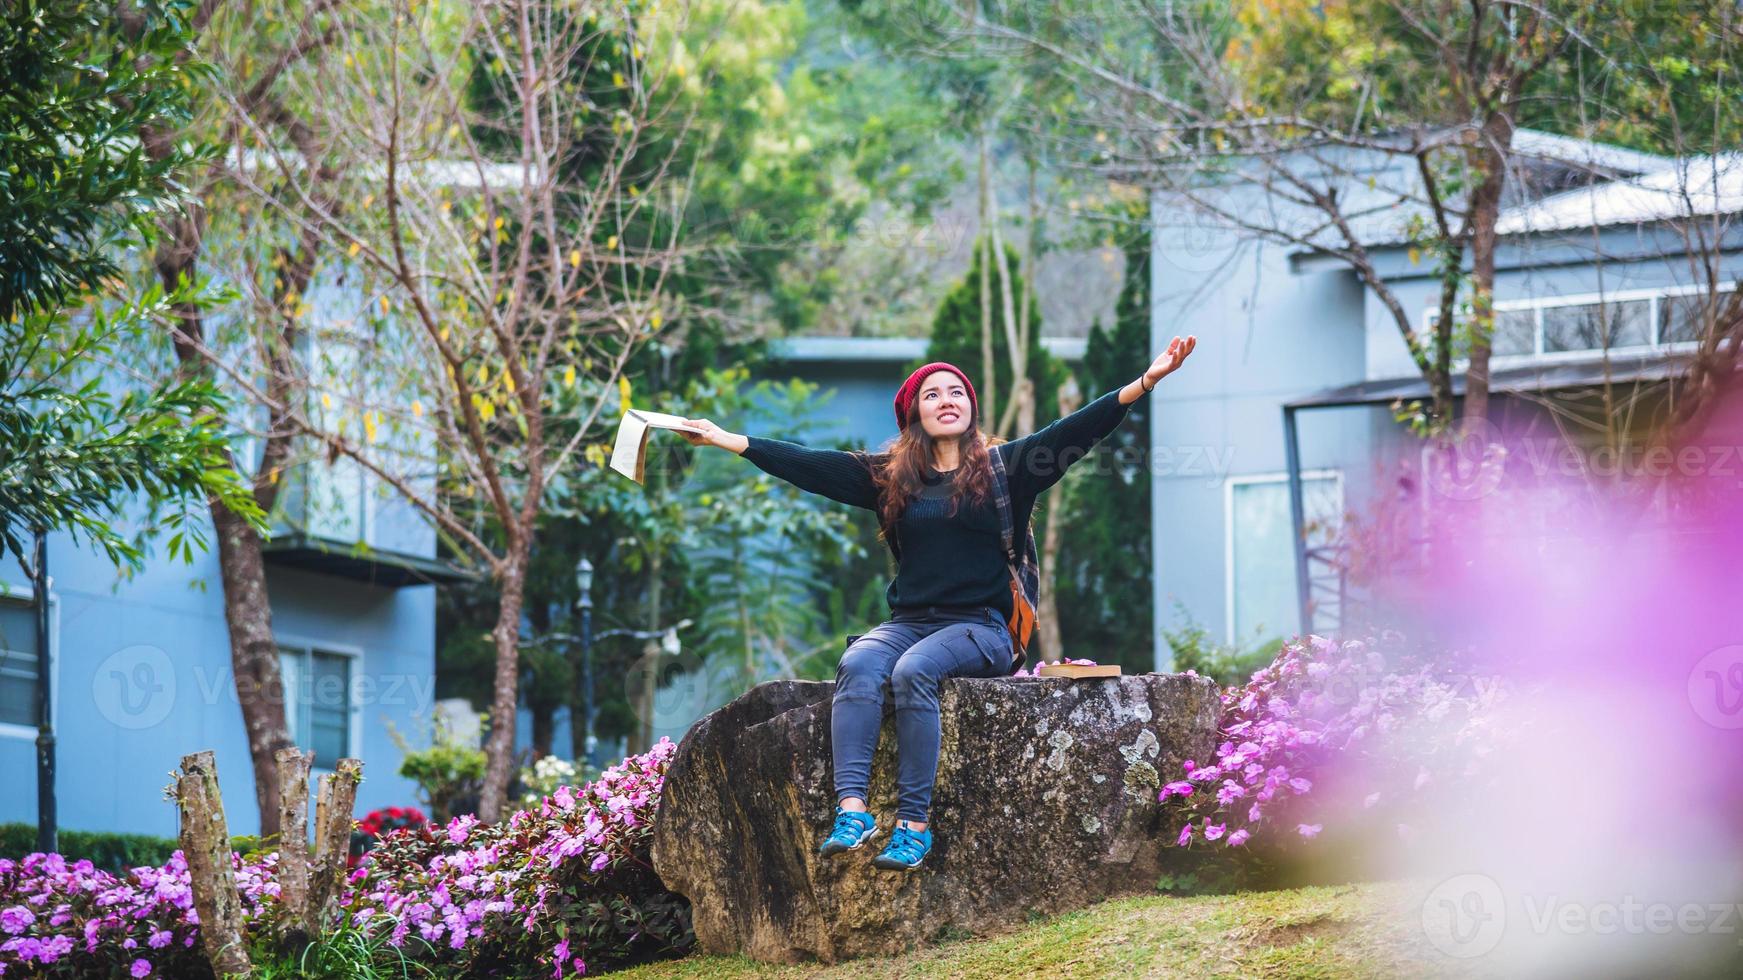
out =
<svg viewBox="0 0 1743 980"><path fill-rule="evenodd" d="M19 0L0 14L0 546L68 530L129 570L146 534L204 546L190 513L207 497L256 527L260 507L228 464L223 399L204 382L134 385L117 347L162 324L197 288L125 298L115 256L181 202L187 150L148 159L141 127L188 115L202 68L187 5L134 23L112 3ZM145 504L145 532L115 521ZM162 523L157 518L164 507Z"/></svg>

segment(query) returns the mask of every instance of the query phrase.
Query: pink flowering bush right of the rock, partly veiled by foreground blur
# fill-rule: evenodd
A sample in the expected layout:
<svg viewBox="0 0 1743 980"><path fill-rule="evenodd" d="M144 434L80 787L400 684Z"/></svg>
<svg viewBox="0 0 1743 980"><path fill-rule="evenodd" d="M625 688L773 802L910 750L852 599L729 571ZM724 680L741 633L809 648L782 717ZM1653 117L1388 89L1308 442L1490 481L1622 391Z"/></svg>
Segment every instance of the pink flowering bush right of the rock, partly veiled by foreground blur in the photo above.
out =
<svg viewBox="0 0 1743 980"><path fill-rule="evenodd" d="M1163 786L1161 800L1180 811L1173 842L1311 840L1326 821L1375 807L1408 835L1414 804L1483 774L1504 698L1504 685L1471 682L1445 659L1389 661L1372 640L1292 640L1245 685L1222 691L1215 755L1185 760Z"/></svg>

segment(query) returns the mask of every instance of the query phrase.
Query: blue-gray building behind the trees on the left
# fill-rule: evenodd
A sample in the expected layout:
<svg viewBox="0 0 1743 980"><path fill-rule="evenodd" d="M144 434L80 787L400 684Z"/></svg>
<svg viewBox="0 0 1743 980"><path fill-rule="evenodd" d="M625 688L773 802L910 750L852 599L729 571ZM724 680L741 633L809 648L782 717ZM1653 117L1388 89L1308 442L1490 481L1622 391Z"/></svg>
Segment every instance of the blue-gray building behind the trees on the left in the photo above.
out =
<svg viewBox="0 0 1743 980"><path fill-rule="evenodd" d="M417 802L389 725L427 741L436 696L434 534L343 464L305 464L284 490L267 588L286 711L315 772L359 757L357 813ZM174 837L164 799L181 755L218 757L232 834L260 813L216 551L152 560L122 579L64 534L47 539L49 656L59 827ZM35 610L17 561L0 565L0 821L37 821Z"/></svg>

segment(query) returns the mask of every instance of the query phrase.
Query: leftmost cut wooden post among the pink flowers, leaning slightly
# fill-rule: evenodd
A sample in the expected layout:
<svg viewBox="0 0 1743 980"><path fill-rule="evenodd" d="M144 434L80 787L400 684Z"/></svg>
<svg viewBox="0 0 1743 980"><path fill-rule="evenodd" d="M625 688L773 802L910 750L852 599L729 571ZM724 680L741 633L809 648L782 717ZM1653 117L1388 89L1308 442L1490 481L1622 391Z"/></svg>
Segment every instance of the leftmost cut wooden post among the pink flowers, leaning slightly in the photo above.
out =
<svg viewBox="0 0 1743 980"><path fill-rule="evenodd" d="M230 827L211 752L181 757L176 806L181 809L181 854L188 861L193 909L200 914L200 947L218 977L249 977L253 966L242 942L242 895L230 867Z"/></svg>

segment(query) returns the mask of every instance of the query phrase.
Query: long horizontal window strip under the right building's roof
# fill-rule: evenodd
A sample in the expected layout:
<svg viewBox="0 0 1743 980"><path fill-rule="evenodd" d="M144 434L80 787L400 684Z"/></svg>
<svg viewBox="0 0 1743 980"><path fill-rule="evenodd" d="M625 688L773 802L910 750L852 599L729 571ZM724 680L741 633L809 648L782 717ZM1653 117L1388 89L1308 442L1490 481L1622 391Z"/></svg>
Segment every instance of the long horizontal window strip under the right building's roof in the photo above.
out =
<svg viewBox="0 0 1743 980"><path fill-rule="evenodd" d="M1611 296L1553 296L1495 302L1495 331L1490 352L1497 357L1570 354L1598 350L1651 350L1666 344L1699 340L1710 302L1726 302L1736 289L1726 282L1710 300L1705 288L1626 289ZM1459 309L1459 317L1471 305ZM1424 317L1433 330L1440 310Z"/></svg>

